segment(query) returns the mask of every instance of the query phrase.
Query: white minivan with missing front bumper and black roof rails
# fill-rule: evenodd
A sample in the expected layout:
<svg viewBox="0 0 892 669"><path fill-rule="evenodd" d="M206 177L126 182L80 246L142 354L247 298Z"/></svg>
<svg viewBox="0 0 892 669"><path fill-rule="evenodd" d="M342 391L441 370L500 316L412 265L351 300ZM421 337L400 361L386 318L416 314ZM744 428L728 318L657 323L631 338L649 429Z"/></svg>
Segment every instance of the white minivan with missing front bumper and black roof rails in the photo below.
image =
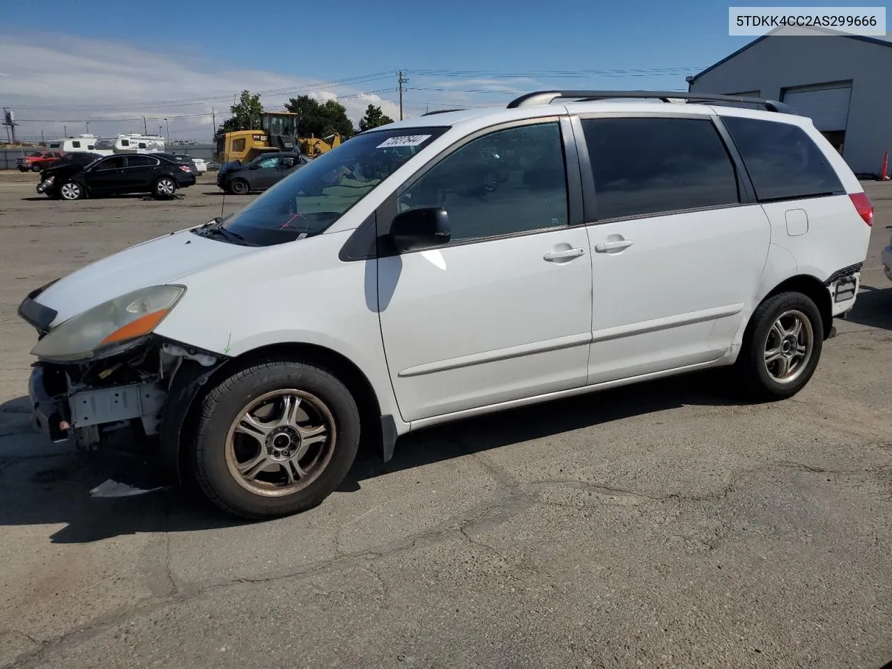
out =
<svg viewBox="0 0 892 669"><path fill-rule="evenodd" d="M720 366L789 397L855 304L873 209L810 120L739 102L539 92L363 132L30 293L35 421L88 450L123 430L260 518L324 500L360 439L386 460L428 425Z"/></svg>

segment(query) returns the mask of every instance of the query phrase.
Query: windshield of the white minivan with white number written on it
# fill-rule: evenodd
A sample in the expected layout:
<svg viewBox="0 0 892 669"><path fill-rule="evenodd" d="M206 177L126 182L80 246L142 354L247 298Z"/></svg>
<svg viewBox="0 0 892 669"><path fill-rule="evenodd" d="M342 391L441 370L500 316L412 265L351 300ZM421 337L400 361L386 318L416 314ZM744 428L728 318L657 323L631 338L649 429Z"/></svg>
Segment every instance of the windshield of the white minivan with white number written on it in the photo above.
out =
<svg viewBox="0 0 892 669"><path fill-rule="evenodd" d="M228 218L247 244L318 235L448 128L377 130L323 153Z"/></svg>

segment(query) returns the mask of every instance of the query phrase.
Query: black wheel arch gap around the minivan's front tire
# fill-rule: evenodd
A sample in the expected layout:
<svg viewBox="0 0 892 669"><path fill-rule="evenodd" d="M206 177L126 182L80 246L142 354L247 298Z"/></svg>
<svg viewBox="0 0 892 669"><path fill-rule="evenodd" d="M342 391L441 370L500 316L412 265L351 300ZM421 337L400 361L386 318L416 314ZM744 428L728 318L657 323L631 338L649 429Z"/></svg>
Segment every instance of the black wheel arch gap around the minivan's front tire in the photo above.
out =
<svg viewBox="0 0 892 669"><path fill-rule="evenodd" d="M174 377L168 404L161 423L161 460L173 478L182 481L186 449L183 434L188 434L198 419L198 407L207 392L239 368L269 358L288 358L309 362L326 368L350 391L357 401L360 421L360 450L372 448L381 453L384 461L392 456L396 441L393 418L382 416L381 404L368 376L343 353L314 343L271 343L244 351L225 359L213 368L201 368L189 362Z"/></svg>

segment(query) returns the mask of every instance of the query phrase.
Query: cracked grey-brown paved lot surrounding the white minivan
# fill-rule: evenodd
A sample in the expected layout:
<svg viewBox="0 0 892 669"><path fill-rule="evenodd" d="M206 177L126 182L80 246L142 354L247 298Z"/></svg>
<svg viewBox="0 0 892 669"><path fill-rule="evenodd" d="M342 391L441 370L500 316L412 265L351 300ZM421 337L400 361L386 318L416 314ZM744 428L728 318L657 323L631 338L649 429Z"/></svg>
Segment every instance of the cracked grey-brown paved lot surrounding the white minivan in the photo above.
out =
<svg viewBox="0 0 892 669"><path fill-rule="evenodd" d="M91 500L103 466L31 434L22 397L24 294L218 215L211 179L51 202L0 175L0 666L892 660L892 184L866 185L863 293L796 398L741 406L695 375L469 420L241 524L184 491Z"/></svg>

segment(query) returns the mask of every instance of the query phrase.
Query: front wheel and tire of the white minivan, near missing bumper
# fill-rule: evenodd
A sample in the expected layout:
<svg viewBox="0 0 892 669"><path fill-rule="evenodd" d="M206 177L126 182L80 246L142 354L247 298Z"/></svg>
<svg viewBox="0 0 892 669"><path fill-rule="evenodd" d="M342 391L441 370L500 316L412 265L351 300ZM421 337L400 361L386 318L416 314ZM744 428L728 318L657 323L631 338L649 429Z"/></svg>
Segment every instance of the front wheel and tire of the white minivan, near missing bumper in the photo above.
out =
<svg viewBox="0 0 892 669"><path fill-rule="evenodd" d="M323 368L269 359L202 401L191 458L204 494L234 516L288 516L318 506L359 449L359 409Z"/></svg>

